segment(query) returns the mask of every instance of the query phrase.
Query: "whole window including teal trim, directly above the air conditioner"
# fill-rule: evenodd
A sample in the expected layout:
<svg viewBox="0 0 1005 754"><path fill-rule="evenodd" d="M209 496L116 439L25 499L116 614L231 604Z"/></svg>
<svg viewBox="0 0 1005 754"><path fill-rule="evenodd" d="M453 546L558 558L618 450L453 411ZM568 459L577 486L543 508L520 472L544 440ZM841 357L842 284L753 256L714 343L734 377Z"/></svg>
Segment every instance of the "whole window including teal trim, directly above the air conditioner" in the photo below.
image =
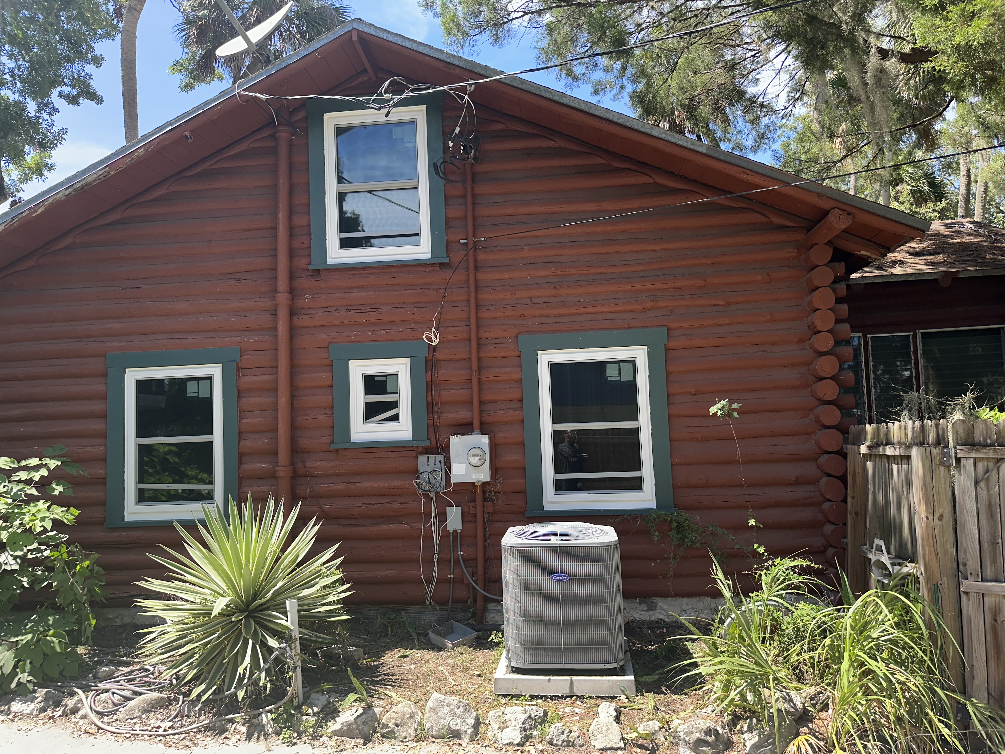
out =
<svg viewBox="0 0 1005 754"><path fill-rule="evenodd" d="M523 335L529 515L672 508L666 330Z"/></svg>

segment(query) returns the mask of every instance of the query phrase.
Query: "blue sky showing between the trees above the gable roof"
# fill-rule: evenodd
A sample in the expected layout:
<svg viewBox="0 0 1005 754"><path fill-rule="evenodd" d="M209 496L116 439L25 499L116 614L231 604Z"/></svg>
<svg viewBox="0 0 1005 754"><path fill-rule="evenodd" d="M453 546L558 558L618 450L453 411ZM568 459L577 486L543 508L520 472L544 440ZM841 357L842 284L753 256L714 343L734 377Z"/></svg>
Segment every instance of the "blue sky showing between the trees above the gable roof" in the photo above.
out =
<svg viewBox="0 0 1005 754"><path fill-rule="evenodd" d="M416 0L356 0L350 2L353 14L377 26L443 47L439 21L425 15ZM175 40L173 27L178 13L168 0L148 0L140 18L137 43L137 77L140 99L140 133L145 134L170 121L187 110L210 99L223 88L224 82L200 86L185 93L178 89L178 78L168 73L168 66L177 59L181 49ZM59 114L56 122L68 130L65 143L56 150L56 170L48 176L46 184L35 182L24 187L25 197L62 180L77 170L99 160L118 149L125 142L122 115L122 82L119 67L119 40L105 42L98 47L105 63L94 69L94 84L104 97L102 105L86 103L73 108L57 101ZM466 53L487 65L504 70L518 70L535 64L531 39L496 48L487 42L477 50ZM529 78L548 86L562 88L550 72L532 74ZM608 108L630 114L624 102L597 100L586 87L571 93Z"/></svg>

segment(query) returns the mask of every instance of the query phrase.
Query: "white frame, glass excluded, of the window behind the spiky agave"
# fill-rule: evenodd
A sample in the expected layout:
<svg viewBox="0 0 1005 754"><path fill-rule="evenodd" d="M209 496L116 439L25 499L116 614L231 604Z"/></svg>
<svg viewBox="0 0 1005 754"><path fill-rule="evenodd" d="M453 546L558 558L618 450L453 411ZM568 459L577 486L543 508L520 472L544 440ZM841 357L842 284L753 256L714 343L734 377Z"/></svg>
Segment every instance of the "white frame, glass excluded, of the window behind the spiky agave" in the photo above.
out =
<svg viewBox="0 0 1005 754"><path fill-rule="evenodd" d="M188 367L145 367L127 369L126 372L126 509L125 521L164 521L165 519L202 519L203 505L223 505L223 365L202 364ZM163 380L176 377L209 377L213 381L213 433L198 436L200 440L213 440L213 486L205 501L187 503L137 503L137 466L140 444L170 442L171 437L138 438L136 436L136 382L137 380ZM188 486L185 486L188 487ZM196 486L192 486L196 487ZM208 487L208 486L207 486Z"/></svg>

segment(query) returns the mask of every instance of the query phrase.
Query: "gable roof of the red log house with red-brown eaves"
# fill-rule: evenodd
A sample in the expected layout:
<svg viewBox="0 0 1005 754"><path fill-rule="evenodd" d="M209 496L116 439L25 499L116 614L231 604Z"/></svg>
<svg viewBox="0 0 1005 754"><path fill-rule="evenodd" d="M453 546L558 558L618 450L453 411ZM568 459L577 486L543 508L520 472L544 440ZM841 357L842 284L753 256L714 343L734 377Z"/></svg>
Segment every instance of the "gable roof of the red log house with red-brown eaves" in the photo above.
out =
<svg viewBox="0 0 1005 754"><path fill-rule="evenodd" d="M136 142L0 213L0 272L18 256L54 242L81 222L93 219L96 214L169 179L256 129L266 127L272 120L270 115L251 108L246 98L242 101L242 91L273 96L324 93L349 77L370 70L371 61L364 44L369 46L376 68L394 71L396 62L407 62L410 77L436 85L501 72L362 19L353 19ZM387 64L381 65L382 62ZM477 102L479 98L495 103L501 101L508 106L508 112L526 121L592 144L602 143L612 152L721 188L724 193L800 180L756 160L520 77L479 84L472 99ZM493 104L493 107L499 106ZM576 113L581 117L575 118ZM183 135L190 138L183 138ZM851 211L855 220L835 239L835 245L872 258L882 256L889 248L912 237L923 235L929 227L929 223L920 218L816 183L787 186L754 194L754 197L759 203L777 207L797 221L802 219L801 224L807 227L812 227L835 206ZM53 213L51 210L55 206L59 211Z"/></svg>

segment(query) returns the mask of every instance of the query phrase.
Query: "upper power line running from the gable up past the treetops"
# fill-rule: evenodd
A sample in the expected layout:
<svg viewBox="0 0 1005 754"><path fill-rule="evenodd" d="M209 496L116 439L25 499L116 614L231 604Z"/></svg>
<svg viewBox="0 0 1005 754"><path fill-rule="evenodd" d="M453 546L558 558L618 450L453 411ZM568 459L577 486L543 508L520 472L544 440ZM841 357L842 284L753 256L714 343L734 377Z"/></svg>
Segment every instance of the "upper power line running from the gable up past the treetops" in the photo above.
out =
<svg viewBox="0 0 1005 754"><path fill-rule="evenodd" d="M633 49L639 49L640 47L645 47L649 44L655 44L656 42L665 42L669 39L680 39L682 37L692 36L693 34L700 34L706 31L712 31L713 29L718 29L723 26L729 26L730 24L736 23L737 21L744 21L748 18L753 18L754 16L759 16L762 13L770 13L776 10L782 10L784 8L791 8L796 5L802 5L803 3L808 3L810 0L790 0L787 3L781 3L779 5L771 5L766 8L759 8L757 10L747 11L746 13L738 13L729 18L724 18L722 21L716 21L715 23L706 24L705 26L698 26L693 29L687 29L685 31L675 31L672 34L663 34L662 36L651 37L649 39L643 39L638 42L633 42L632 44L626 44L623 47L614 47L611 49L598 50L596 52L587 52L582 55L576 55L575 57L569 57L565 60L561 60L555 63L548 63L546 65L537 65L533 68L524 68L523 70L514 70L506 73L497 73L493 76L487 76L485 78L477 78L470 81L459 81L457 83L448 83L442 86L430 86L429 84L416 84L409 86L405 91L400 95L392 95L387 91L387 84L390 80L385 82L383 86L378 90L376 95L370 97L354 97L349 95L262 95L257 91L244 91L244 95L250 97L257 97L262 100L344 100L350 102L357 102L366 105L369 108L375 110L390 110L394 108L399 102L408 97L417 97L419 95L430 95L437 91L452 91L455 88L466 86L471 87L478 83L488 83L490 81L498 81L504 78L512 78L513 76L525 75L527 73L539 73L543 70L551 70L552 68L560 68L563 65L571 65L572 63L581 62L583 60L590 60L595 57L604 57L606 55L614 55L619 52L627 52ZM394 79L391 79L394 80ZM399 79L400 80L400 79ZM386 101L384 104L376 104L378 101Z"/></svg>

